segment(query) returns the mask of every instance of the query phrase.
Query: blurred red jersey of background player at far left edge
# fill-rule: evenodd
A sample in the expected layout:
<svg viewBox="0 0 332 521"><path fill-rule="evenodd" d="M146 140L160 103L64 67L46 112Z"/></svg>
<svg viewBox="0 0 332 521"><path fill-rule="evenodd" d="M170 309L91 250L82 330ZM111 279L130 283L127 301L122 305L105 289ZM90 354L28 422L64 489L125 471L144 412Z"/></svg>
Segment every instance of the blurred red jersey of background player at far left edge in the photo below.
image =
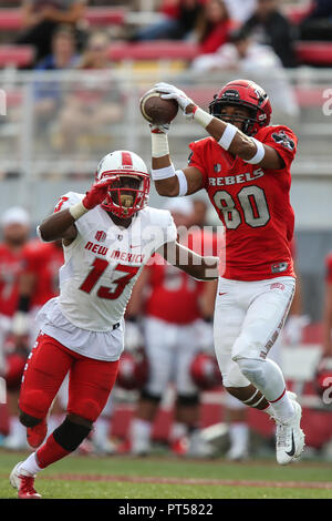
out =
<svg viewBox="0 0 332 521"><path fill-rule="evenodd" d="M6 244L0 244L0 314L9 317L18 306L22 258L22 249L13 253Z"/></svg>

